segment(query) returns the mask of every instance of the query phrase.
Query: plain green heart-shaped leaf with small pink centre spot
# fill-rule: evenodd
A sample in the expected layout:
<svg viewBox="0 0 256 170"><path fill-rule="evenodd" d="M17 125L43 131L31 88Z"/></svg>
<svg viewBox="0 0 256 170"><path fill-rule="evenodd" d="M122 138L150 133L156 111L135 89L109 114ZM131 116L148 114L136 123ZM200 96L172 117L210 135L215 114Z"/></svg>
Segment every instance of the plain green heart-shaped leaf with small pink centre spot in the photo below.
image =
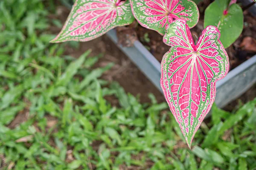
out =
<svg viewBox="0 0 256 170"><path fill-rule="evenodd" d="M205 10L204 27L216 26L224 48L229 47L243 31L244 16L236 0L215 0Z"/></svg>

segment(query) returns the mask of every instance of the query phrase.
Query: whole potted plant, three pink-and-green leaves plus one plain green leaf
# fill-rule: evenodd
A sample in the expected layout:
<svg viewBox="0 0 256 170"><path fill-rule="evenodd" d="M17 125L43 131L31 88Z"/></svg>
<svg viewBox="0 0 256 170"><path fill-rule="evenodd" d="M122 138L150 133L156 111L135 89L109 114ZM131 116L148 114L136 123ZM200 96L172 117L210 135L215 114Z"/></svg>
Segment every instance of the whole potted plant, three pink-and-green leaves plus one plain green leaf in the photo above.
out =
<svg viewBox="0 0 256 170"><path fill-rule="evenodd" d="M52 42L92 40L115 26L130 24L134 17L145 28L165 34L165 37L173 35L172 43L165 37L163 39L172 46L172 53L169 51L163 57L161 85L166 101L190 147L195 132L214 102L215 81L223 78L229 70L224 48L230 46L243 29L243 12L236 0L215 0L207 7L204 19L204 26L206 29L212 28L212 33L209 31L208 36L200 39L204 39L204 42L195 45L188 30L198 23L199 11L196 3L192 0L107 0L86 3L76 0L63 30ZM119 20L122 22L119 23ZM177 26L176 20L184 25ZM192 64L183 70L183 66L189 61L193 61ZM192 69L194 61L200 65L196 70ZM195 80L185 78L188 73L193 75L194 71L199 74L192 77ZM200 76L200 73L204 76ZM187 87L189 85L196 88L195 92ZM177 87L179 88L176 89ZM207 100L204 101L205 99Z"/></svg>

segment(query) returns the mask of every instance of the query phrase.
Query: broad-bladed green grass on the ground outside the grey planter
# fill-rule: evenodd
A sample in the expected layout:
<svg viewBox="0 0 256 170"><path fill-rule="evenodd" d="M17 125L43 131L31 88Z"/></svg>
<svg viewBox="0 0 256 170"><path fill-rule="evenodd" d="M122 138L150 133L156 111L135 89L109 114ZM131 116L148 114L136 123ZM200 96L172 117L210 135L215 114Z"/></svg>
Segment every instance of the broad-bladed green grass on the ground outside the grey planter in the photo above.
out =
<svg viewBox="0 0 256 170"><path fill-rule="evenodd" d="M74 42L48 43L49 4L0 2L1 170L256 169L256 99L233 113L214 105L189 150L166 103L100 79L113 64L92 69L90 51L64 56Z"/></svg>

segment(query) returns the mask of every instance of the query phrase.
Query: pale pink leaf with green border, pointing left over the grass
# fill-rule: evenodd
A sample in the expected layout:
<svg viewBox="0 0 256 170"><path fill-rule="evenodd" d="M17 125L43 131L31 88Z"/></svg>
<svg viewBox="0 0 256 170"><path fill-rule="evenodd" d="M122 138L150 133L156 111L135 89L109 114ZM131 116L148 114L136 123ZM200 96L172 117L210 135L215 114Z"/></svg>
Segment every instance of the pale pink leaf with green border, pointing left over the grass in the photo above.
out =
<svg viewBox="0 0 256 170"><path fill-rule="evenodd" d="M93 40L133 21L129 0L76 0L64 27L51 42Z"/></svg>

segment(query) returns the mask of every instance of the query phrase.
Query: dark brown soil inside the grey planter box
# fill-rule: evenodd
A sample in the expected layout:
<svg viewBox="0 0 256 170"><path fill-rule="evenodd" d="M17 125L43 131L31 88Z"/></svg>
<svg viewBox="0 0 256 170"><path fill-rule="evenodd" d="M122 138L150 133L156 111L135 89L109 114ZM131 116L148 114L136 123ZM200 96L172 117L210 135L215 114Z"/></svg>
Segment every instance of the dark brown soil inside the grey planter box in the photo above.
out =
<svg viewBox="0 0 256 170"><path fill-rule="evenodd" d="M198 4L200 18L198 24L190 29L194 39L195 36L200 37L204 30L204 11L210 3L210 0L203 0ZM163 43L163 36L140 25L135 29L140 42L161 62L163 55L170 48L170 46ZM150 42L145 40L145 34L148 35ZM226 51L230 59L230 70L256 54L256 17L248 11L244 11L244 29L242 34L230 47L226 48Z"/></svg>

